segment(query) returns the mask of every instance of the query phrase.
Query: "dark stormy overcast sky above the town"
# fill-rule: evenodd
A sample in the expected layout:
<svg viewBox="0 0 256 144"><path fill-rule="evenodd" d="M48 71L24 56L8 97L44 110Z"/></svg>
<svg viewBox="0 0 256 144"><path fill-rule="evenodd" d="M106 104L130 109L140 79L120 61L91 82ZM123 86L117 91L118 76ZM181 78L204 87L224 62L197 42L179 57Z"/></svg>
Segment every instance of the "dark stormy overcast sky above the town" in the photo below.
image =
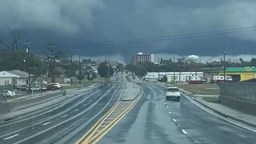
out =
<svg viewBox="0 0 256 144"><path fill-rule="evenodd" d="M44 54L49 41L84 57L130 62L133 53L163 57L220 57L256 54L256 31L139 44L93 45L92 42L172 36L256 26L255 0L1 0L0 39L14 33L33 41L32 52ZM89 46L85 46L89 45ZM0 46L4 47L4 46Z"/></svg>

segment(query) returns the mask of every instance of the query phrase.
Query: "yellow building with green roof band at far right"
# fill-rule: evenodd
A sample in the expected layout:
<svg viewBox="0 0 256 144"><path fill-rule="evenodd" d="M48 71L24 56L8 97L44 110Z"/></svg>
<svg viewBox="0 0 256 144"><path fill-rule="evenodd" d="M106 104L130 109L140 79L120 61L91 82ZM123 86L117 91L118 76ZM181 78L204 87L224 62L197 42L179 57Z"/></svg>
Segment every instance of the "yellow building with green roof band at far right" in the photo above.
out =
<svg viewBox="0 0 256 144"><path fill-rule="evenodd" d="M223 71L219 75L224 75ZM233 67L226 68L226 75L232 76L233 81L244 81L256 78L256 68L254 67Z"/></svg>

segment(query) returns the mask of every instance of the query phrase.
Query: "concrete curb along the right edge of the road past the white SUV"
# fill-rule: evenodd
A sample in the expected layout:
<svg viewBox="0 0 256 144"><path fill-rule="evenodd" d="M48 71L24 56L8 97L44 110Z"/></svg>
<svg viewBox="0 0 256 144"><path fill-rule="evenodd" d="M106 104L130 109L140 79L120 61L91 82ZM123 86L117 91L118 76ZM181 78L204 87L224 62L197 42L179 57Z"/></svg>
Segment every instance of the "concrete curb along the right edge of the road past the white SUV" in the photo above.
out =
<svg viewBox="0 0 256 144"><path fill-rule="evenodd" d="M200 104L203 105L205 108L211 109L212 111L214 111L216 114L218 114L218 115L220 115L220 116L223 116L223 117L226 117L226 118L231 118L231 119L233 119L233 120L235 120L235 121L238 121L238 122L241 122L241 123L244 123L244 124L247 124L247 125L249 125L249 126L252 126L252 127L255 127L255 128L256 128L256 124L251 124L251 123L248 123L248 122L246 122L246 121L244 121L244 120L238 119L238 118L236 118L236 117L233 117L233 116L229 116L229 115L227 115L227 114L224 114L224 113L222 113L222 112L220 112L220 111L218 111L218 110L216 110L216 109L214 109L214 108L211 108L211 107L205 105L205 104L202 103L201 101L196 100L194 97L191 96L191 94L188 94L187 92L185 92L185 90L180 89L180 91L181 91L182 93L186 94L187 96L189 96L192 100L194 100L194 101L200 103Z"/></svg>

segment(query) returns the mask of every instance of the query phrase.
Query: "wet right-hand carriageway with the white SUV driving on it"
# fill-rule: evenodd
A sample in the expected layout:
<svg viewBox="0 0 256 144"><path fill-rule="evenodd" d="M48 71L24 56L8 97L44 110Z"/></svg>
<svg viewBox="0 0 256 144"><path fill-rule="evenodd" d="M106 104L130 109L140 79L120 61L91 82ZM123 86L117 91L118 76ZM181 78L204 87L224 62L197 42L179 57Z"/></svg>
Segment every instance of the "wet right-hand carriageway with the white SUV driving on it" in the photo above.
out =
<svg viewBox="0 0 256 144"><path fill-rule="evenodd" d="M256 143L256 133L208 114L184 96L180 102L168 100L165 105L164 87L140 86L144 94L138 103L98 144Z"/></svg>

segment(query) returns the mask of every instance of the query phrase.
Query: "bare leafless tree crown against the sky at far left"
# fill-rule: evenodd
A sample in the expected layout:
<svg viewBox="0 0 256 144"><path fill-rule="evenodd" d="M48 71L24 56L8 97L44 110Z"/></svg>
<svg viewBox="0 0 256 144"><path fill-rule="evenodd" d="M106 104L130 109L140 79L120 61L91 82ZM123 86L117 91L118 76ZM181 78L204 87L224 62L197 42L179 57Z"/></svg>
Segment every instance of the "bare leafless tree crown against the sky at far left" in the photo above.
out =
<svg viewBox="0 0 256 144"><path fill-rule="evenodd" d="M11 52L14 52L15 50L20 50L25 48L26 46L20 46L19 45L19 40L20 40L20 35L19 34L13 34L12 36L13 40L12 42L8 45L7 43L3 42L0 39L0 44L3 44L4 46L6 46Z"/></svg>

